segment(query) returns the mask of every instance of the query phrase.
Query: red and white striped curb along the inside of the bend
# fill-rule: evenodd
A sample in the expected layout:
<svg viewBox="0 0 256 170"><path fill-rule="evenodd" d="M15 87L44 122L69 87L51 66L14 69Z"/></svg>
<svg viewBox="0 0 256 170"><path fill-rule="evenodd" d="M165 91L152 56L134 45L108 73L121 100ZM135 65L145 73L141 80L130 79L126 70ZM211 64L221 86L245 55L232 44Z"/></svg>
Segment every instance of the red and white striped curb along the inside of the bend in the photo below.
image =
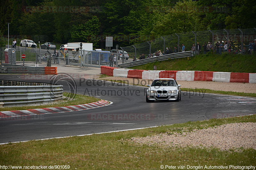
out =
<svg viewBox="0 0 256 170"><path fill-rule="evenodd" d="M27 115L39 115L39 114L51 114L51 113L63 113L63 112L73 112L79 110L87 110L97 107L103 107L112 104L107 100L100 100L93 103L74 105L74 106L64 106L64 107L48 107L42 109L29 109L29 110L19 110L19 111L3 111L0 112L0 118L4 117L14 117L14 116L27 116Z"/></svg>

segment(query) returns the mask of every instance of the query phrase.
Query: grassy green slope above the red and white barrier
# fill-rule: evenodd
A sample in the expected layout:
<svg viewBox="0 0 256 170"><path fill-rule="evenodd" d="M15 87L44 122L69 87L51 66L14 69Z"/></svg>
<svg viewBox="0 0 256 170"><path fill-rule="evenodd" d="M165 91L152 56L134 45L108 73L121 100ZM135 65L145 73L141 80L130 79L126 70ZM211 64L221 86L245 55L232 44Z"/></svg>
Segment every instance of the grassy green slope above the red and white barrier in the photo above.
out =
<svg viewBox="0 0 256 170"><path fill-rule="evenodd" d="M187 71L221 71L256 73L256 55L207 54L191 58L170 59L161 62L134 66L130 69L153 70L187 70Z"/></svg>

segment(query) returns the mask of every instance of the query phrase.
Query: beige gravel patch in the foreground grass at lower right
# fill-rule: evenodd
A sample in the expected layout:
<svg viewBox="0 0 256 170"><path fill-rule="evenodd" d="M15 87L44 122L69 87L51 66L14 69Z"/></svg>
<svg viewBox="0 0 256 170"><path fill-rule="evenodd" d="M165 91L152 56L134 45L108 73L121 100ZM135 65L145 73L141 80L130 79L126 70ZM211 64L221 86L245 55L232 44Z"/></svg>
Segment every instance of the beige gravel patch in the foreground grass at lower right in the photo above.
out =
<svg viewBox="0 0 256 170"><path fill-rule="evenodd" d="M193 132L162 133L155 136L131 138L138 144L168 147L214 147L222 151L237 148L256 149L256 123L230 123L216 128L196 129Z"/></svg>

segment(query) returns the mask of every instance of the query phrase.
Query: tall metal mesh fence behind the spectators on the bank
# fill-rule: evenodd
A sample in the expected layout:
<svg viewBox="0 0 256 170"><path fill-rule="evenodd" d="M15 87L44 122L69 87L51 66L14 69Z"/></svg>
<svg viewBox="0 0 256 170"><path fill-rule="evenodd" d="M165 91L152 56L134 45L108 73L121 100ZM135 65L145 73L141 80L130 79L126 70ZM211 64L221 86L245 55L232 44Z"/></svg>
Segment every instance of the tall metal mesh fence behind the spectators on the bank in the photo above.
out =
<svg viewBox="0 0 256 170"><path fill-rule="evenodd" d="M186 51L190 51L193 44L201 45L200 54L204 53L203 45L206 42L212 42L212 51L216 52L216 43L220 41L224 47L224 43L227 42L231 45L231 52L239 52L239 49L247 48L248 51L250 41L256 39L256 28L250 29L234 29L234 30L207 30L207 31L191 31L187 33L175 33L164 37L157 38L152 41L143 42L140 44L123 47L130 56L139 57L140 54L145 56L155 53L158 50L164 54L166 48L171 48L172 52L174 47L179 49L181 52L182 44L184 44ZM223 49L222 49L223 50Z"/></svg>

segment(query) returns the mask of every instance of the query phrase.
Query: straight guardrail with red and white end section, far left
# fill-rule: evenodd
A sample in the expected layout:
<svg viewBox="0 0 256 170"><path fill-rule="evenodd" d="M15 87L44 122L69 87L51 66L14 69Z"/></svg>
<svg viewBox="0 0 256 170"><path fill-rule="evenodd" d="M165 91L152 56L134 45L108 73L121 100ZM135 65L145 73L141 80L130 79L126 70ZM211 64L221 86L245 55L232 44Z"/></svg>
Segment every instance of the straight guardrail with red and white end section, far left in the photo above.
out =
<svg viewBox="0 0 256 170"><path fill-rule="evenodd" d="M51 74L57 75L57 67L2 67L0 74Z"/></svg>

